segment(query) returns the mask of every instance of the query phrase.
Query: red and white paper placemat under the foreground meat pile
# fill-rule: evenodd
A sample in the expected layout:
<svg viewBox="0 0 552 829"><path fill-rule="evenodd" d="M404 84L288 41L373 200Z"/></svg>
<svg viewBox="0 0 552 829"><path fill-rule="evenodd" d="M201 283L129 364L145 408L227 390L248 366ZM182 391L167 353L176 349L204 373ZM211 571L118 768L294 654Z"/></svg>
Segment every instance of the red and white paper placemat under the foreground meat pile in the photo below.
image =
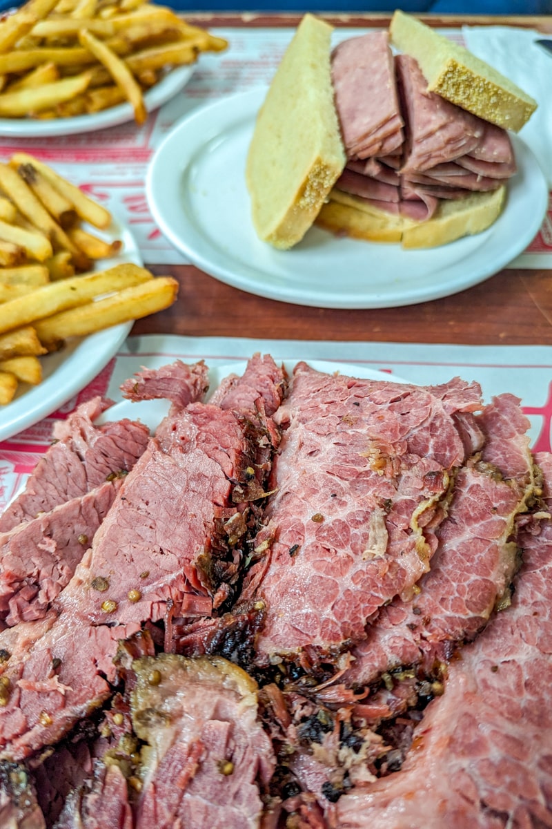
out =
<svg viewBox="0 0 552 829"><path fill-rule="evenodd" d="M530 440L537 451L550 451L552 421L552 350L550 347L482 347L377 342L300 342L229 337L129 337L122 350L84 390L40 423L0 444L0 511L22 486L50 445L55 419L66 418L95 395L122 400L119 385L142 366L152 368L180 358L204 359L209 366L247 360L255 351L275 358L329 360L384 371L420 385L462 376L482 385L486 401L509 391L521 398L530 419Z"/></svg>

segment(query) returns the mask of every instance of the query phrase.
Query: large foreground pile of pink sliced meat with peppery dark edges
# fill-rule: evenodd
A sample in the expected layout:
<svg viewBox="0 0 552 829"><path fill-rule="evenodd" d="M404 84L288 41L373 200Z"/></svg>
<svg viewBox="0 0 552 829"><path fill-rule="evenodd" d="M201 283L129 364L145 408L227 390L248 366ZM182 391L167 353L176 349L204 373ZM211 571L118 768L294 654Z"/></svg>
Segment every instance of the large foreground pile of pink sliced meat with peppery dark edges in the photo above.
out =
<svg viewBox="0 0 552 829"><path fill-rule="evenodd" d="M0 518L0 826L552 826L519 400L259 355L208 385L123 384L170 400L152 435L80 407Z"/></svg>

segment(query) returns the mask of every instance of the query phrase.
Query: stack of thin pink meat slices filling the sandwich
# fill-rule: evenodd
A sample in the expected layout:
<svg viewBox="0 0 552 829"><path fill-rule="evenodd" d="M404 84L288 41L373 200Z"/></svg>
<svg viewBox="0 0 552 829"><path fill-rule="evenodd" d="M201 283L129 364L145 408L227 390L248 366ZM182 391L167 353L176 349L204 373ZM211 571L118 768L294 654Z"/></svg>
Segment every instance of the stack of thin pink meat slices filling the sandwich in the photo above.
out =
<svg viewBox="0 0 552 829"><path fill-rule="evenodd" d="M516 172L506 131L428 92L415 59L392 56L387 32L339 44L332 79L348 157L339 190L425 221L439 199L496 190Z"/></svg>

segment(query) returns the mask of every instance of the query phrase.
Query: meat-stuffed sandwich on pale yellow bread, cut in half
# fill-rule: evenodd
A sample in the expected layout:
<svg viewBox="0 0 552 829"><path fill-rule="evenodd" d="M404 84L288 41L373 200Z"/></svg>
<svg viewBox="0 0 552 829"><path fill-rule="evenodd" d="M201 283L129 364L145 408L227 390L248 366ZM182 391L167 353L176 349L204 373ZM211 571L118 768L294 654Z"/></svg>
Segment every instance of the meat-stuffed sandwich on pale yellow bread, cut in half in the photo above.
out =
<svg viewBox="0 0 552 829"><path fill-rule="evenodd" d="M507 131L535 101L404 12L334 51L332 31L305 15L257 116L246 169L257 235L286 250L316 223L430 248L486 230L516 172Z"/></svg>

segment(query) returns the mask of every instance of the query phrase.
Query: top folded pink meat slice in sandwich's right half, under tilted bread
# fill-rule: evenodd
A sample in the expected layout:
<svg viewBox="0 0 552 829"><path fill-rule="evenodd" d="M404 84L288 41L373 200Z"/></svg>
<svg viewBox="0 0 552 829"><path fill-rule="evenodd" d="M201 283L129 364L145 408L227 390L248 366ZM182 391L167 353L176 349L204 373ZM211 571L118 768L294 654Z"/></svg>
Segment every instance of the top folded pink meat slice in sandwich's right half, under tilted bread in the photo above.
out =
<svg viewBox="0 0 552 829"><path fill-rule="evenodd" d="M483 135L482 119L428 92L414 58L397 56L396 68L408 135L402 171L422 172L471 153Z"/></svg>

